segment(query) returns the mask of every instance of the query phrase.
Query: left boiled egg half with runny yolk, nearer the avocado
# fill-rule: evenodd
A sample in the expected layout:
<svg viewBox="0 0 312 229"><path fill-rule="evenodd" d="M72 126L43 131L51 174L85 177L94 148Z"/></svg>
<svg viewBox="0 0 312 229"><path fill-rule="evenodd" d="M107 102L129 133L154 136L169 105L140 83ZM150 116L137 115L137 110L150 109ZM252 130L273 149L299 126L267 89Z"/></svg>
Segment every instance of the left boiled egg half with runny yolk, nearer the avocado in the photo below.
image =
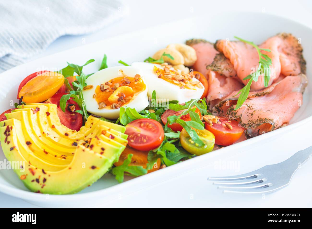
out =
<svg viewBox="0 0 312 229"><path fill-rule="evenodd" d="M120 107L140 112L148 106L148 88L132 66L110 67L89 76L83 97L87 111L109 119L119 117Z"/></svg>

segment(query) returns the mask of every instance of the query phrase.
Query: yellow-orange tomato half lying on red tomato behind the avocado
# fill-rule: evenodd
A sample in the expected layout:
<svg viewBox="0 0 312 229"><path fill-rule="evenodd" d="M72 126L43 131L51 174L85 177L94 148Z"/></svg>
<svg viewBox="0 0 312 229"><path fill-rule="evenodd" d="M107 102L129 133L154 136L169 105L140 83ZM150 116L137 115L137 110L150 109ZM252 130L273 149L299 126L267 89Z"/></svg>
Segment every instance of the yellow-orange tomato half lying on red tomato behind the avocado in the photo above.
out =
<svg viewBox="0 0 312 229"><path fill-rule="evenodd" d="M47 71L29 80L18 96L25 103L40 103L52 97L64 84L64 76Z"/></svg>

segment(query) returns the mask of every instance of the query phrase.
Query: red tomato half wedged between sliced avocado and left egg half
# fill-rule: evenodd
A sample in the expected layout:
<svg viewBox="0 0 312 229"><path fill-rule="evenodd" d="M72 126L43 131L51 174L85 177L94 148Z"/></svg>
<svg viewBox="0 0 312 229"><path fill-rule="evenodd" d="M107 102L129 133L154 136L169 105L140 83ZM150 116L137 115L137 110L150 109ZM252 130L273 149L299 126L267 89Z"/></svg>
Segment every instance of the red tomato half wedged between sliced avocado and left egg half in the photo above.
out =
<svg viewBox="0 0 312 229"><path fill-rule="evenodd" d="M62 97L62 95L65 94L66 93L56 93L51 98L49 98L45 103L56 104L57 115L60 118L61 123L72 130L79 131L80 127L82 126L82 115L77 112L71 112L68 109L66 109L66 111L63 112L60 107L60 98ZM75 111L80 110L80 107L72 98L67 100L66 105L68 104L75 104Z"/></svg>

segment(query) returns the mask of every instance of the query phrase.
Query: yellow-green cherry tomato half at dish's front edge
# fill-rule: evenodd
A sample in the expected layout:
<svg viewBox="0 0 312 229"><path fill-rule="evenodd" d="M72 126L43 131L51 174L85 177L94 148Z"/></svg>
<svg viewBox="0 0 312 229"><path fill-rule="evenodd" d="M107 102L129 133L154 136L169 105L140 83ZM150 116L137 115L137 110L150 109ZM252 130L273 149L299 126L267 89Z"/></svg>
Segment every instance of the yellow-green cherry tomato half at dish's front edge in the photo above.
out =
<svg viewBox="0 0 312 229"><path fill-rule="evenodd" d="M189 136L188 132L183 128L180 134L180 141L183 148L189 153L195 154L197 156L212 151L215 143L215 136L212 134L212 132L207 130L195 130L195 131L197 132L200 140L204 142L204 146L199 146L197 143L195 143Z"/></svg>

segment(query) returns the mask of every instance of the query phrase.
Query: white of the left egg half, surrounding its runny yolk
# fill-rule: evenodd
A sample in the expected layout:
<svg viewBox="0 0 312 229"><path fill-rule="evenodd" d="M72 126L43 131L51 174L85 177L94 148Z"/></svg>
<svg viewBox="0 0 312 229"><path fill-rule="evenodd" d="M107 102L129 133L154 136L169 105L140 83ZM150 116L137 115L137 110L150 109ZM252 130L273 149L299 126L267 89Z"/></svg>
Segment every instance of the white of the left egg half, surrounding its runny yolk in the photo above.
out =
<svg viewBox="0 0 312 229"><path fill-rule="evenodd" d="M119 117L120 108L110 109L109 107L105 107L103 109L99 109L99 104L96 102L95 98L93 98L93 95L95 94L95 88L97 85L100 85L101 83L105 83L116 77L120 77L121 76L119 72L120 69L122 69L124 73L128 75L129 77L134 77L135 74L139 74L139 69L135 67L116 66L116 67L102 69L94 73L93 75L89 76L88 79L86 79L85 82L87 83L87 85L93 85L93 88L88 89L88 90L83 90L82 92L88 112L90 112L91 114L99 115L99 116L109 118L109 119L115 119ZM145 80L142 77L141 79L146 84ZM149 105L147 92L148 92L148 87L146 85L146 88L144 91L134 96L130 100L129 103L127 103L126 105L122 107L134 108L137 112L144 110L144 108Z"/></svg>

